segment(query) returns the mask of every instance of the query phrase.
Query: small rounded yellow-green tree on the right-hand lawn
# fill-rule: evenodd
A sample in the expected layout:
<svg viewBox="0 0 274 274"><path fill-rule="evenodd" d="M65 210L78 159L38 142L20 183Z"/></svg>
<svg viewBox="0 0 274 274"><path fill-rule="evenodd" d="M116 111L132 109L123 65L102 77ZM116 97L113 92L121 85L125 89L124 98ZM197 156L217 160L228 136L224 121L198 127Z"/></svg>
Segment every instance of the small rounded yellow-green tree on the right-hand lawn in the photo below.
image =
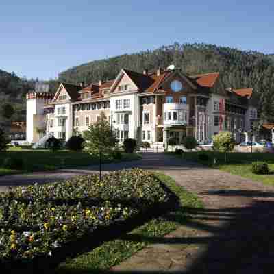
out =
<svg viewBox="0 0 274 274"><path fill-rule="evenodd" d="M225 162L227 162L227 152L232 151L235 145L232 132L219 132L212 139L214 149L225 153Z"/></svg>

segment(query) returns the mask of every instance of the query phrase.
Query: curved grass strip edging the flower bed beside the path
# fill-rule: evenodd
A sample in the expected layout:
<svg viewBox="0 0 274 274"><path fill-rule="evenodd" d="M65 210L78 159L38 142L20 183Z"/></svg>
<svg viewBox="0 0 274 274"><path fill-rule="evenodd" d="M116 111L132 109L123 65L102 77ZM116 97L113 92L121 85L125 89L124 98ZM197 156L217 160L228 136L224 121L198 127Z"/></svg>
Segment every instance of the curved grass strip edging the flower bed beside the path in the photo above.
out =
<svg viewBox="0 0 274 274"><path fill-rule="evenodd" d="M190 216L185 208L203 207L195 195L187 192L181 186L177 186L171 177L160 173L155 173L155 176L175 192L175 195L179 197L180 207L164 216L151 219L124 237L104 242L90 252L79 255L77 258L68 259L67 262L60 264L56 273L84 274L108 270L147 246L149 244L147 238L162 237L177 229Z"/></svg>

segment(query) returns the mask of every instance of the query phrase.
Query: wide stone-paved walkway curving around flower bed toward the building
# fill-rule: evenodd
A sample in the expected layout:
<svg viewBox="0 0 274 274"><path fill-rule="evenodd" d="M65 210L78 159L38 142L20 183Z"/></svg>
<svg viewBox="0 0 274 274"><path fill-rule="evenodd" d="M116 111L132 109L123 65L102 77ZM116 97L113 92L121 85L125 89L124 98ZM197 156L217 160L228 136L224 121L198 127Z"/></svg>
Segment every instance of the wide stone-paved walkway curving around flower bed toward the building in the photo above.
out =
<svg viewBox="0 0 274 274"><path fill-rule="evenodd" d="M196 193L203 210L189 209L192 219L177 231L148 238L151 245L112 268L116 273L264 273L274 266L274 188L260 182L179 160L147 153L142 160L105 164L105 170L143 167L170 175ZM54 173L0 177L1 189L16 184L66 179L92 173L96 166Z"/></svg>

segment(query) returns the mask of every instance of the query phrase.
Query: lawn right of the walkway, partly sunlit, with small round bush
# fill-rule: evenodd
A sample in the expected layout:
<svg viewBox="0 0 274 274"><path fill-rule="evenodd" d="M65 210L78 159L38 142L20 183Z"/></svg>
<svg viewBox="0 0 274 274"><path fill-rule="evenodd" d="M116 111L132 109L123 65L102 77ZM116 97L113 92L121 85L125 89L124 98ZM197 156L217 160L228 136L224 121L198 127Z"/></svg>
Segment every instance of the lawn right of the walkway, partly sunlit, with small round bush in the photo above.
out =
<svg viewBox="0 0 274 274"><path fill-rule="evenodd" d="M255 181L263 182L274 186L274 154L273 153L227 153L227 163L224 162L223 153L206 152L209 160L201 160L199 155L205 152L186 152L182 157L187 160L194 160L200 164L213 167L213 159L216 159L214 168L227 171L229 173L240 175ZM263 161L269 164L271 173L269 175L256 175L251 173L251 163Z"/></svg>

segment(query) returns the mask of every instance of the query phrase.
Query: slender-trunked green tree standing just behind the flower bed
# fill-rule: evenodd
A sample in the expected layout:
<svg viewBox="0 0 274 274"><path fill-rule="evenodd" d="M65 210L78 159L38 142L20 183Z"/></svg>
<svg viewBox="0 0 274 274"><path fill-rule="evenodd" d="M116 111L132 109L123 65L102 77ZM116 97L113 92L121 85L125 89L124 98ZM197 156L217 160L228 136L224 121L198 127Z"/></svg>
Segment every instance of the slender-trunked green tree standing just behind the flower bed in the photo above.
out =
<svg viewBox="0 0 274 274"><path fill-rule="evenodd" d="M111 153L117 144L116 134L103 112L101 112L99 120L84 132L84 139L86 140L86 151L98 156L99 180L101 182L101 155L102 153Z"/></svg>

